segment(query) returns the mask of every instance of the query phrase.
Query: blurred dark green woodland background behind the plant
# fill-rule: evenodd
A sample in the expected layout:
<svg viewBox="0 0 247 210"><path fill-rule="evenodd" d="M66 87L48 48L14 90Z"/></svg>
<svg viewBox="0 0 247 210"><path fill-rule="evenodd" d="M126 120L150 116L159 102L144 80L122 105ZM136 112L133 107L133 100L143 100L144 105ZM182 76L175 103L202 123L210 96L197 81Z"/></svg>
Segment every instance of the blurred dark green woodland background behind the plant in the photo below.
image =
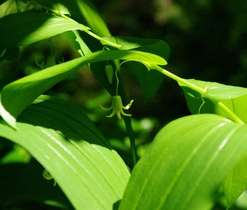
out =
<svg viewBox="0 0 247 210"><path fill-rule="evenodd" d="M247 78L247 1L246 0L92 0L112 35L155 38L171 48L167 69L183 78L215 81L246 87ZM56 61L78 55L58 36L21 49L19 62L0 64L0 88L40 70L50 55ZM137 139L139 157L166 123L189 114L182 90L176 82L164 79L160 90L144 103L141 88L128 70L122 71ZM102 89L89 69L80 69L48 92L81 106L132 167L129 142L123 121L105 118L98 104L107 105L110 95ZM6 146L7 145L7 146ZM14 145L0 145L0 158ZM8 148L8 149L6 149ZM3 160L3 159L2 159ZM6 159L5 159L6 160ZM3 161L2 161L3 163ZM243 201L246 202L246 197ZM243 205L244 206L244 205ZM246 206L246 204L245 204ZM224 209L221 205L215 209ZM232 209L245 209L233 207Z"/></svg>

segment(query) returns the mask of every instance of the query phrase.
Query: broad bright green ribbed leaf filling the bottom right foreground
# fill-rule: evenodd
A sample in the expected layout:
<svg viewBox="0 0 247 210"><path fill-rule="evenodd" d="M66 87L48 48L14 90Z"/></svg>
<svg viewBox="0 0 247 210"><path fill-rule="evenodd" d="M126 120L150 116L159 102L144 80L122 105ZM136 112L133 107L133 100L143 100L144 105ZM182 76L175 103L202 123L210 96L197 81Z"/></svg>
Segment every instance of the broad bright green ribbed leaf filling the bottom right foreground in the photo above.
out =
<svg viewBox="0 0 247 210"><path fill-rule="evenodd" d="M245 125L212 114L169 123L134 167L120 209L211 209L247 154L246 133Z"/></svg>

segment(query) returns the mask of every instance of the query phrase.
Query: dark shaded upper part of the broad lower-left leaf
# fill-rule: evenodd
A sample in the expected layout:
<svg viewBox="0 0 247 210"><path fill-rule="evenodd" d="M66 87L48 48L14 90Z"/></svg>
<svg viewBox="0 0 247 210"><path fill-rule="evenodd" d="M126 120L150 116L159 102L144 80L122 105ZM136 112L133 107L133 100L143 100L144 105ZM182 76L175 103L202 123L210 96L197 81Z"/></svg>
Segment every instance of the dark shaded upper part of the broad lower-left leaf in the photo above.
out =
<svg viewBox="0 0 247 210"><path fill-rule="evenodd" d="M80 130L75 132L80 135L80 138L91 144L111 148L105 137L81 109L59 98L46 95L39 96L18 117L18 120L32 125L62 131L65 136L75 136L73 132L75 132L76 127L80 126Z"/></svg>

